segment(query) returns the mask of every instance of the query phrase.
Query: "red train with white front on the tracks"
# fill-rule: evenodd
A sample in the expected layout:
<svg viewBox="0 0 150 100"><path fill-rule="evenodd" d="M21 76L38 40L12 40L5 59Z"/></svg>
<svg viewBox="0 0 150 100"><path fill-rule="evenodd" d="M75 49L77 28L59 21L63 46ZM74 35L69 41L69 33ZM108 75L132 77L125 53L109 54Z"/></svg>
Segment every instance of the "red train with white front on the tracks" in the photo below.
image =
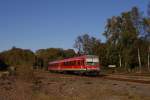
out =
<svg viewBox="0 0 150 100"><path fill-rule="evenodd" d="M49 62L48 70L97 75L100 72L99 58L95 55L84 55L53 61Z"/></svg>

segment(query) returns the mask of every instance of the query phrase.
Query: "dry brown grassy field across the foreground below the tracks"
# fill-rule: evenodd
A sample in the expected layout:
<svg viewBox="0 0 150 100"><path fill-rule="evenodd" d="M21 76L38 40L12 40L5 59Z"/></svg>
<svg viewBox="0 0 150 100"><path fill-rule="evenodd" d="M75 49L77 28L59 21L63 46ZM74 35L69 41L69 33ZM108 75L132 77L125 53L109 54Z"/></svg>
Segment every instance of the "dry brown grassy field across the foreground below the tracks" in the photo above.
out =
<svg viewBox="0 0 150 100"><path fill-rule="evenodd" d="M150 100L149 85L47 72L22 79L29 73L1 79L0 100Z"/></svg>

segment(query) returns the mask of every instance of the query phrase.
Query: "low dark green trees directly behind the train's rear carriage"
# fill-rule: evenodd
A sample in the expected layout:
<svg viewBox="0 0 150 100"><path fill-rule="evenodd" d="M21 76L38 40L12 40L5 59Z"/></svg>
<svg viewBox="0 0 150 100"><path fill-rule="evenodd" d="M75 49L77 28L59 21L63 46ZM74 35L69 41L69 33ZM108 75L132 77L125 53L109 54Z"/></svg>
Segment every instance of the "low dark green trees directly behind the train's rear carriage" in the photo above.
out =
<svg viewBox="0 0 150 100"><path fill-rule="evenodd" d="M37 50L35 55L38 59L38 66L47 68L49 61L73 57L76 54L73 49L63 50L60 48L48 48Z"/></svg>

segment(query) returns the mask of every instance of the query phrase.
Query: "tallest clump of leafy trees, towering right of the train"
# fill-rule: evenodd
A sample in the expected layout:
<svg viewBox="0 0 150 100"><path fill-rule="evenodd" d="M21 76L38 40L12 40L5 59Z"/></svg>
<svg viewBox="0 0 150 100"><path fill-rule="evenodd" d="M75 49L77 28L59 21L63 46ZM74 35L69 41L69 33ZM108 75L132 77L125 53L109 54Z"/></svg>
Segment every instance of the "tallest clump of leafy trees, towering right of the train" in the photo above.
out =
<svg viewBox="0 0 150 100"><path fill-rule="evenodd" d="M147 37L149 25L137 7L108 19L103 35L107 39L106 58L109 64L121 63L125 68L134 68L140 63L146 66L148 41L143 37Z"/></svg>

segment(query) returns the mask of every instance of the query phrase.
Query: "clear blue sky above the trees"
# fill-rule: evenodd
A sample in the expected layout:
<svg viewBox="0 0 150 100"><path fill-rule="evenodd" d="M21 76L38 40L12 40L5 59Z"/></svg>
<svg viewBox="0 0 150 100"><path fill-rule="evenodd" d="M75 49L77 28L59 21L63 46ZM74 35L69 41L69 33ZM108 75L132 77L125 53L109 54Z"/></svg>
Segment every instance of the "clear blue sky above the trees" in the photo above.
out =
<svg viewBox="0 0 150 100"><path fill-rule="evenodd" d="M150 0L0 0L0 51L73 48L85 33L105 42L106 21Z"/></svg>

